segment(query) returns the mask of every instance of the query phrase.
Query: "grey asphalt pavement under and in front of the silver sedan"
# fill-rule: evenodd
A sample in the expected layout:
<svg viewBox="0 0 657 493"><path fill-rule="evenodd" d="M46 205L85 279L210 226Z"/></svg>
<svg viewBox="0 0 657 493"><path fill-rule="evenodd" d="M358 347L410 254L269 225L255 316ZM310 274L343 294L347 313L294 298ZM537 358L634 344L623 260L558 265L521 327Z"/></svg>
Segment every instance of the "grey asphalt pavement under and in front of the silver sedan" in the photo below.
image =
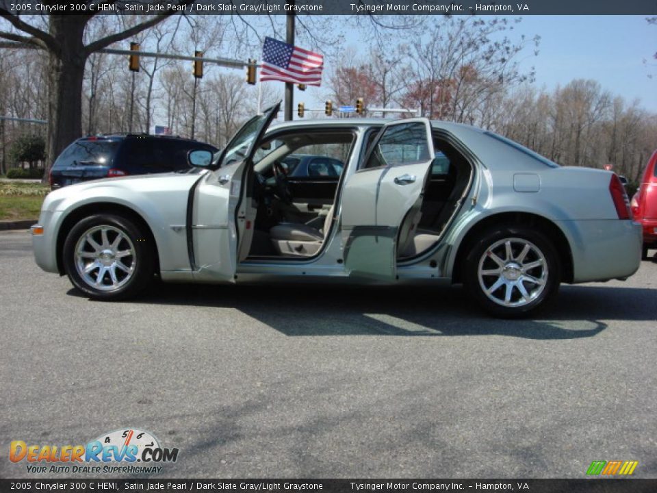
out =
<svg viewBox="0 0 657 493"><path fill-rule="evenodd" d="M81 297L0 233L0 477L12 440L124 427L162 477L657 477L657 263L563 286L533 320L461 288L156 286ZM53 477L44 475L42 477ZM157 477L157 475L155 475Z"/></svg>

